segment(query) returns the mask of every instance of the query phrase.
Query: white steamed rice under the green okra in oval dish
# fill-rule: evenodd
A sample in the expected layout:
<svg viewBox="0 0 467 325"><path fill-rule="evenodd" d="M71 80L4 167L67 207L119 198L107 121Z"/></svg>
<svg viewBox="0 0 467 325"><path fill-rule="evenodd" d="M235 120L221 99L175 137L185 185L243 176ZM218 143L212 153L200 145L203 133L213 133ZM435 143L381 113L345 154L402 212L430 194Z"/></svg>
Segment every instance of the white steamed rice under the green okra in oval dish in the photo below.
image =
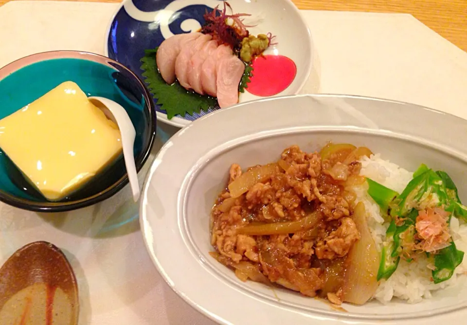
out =
<svg viewBox="0 0 467 325"><path fill-rule="evenodd" d="M379 154L372 155L371 158L363 157L361 163L361 175L373 179L398 193L401 193L413 178L413 172L381 159ZM379 251L381 251L381 245L386 237L386 229L389 224L384 222L379 206L367 194L367 190L368 185L366 182L364 185L355 188L357 200L365 205L368 214L368 226ZM456 247L466 252L466 256L449 280L439 284L430 281L431 270L427 267L428 260L421 254L422 258L416 262L408 263L401 260L393 275L388 280L381 281L375 298L382 303L391 301L393 297L407 300L409 303L417 303L423 298L431 298L431 292L433 291L455 286L459 280L458 277L465 274L467 270L467 224L456 218L451 218L450 231Z"/></svg>

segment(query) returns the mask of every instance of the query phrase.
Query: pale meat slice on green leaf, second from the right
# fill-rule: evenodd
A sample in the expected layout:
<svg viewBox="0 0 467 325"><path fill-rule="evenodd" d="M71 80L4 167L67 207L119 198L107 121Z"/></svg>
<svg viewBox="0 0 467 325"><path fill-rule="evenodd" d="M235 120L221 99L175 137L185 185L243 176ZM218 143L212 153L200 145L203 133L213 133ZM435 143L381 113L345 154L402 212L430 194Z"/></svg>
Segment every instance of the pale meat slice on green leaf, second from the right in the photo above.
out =
<svg viewBox="0 0 467 325"><path fill-rule="evenodd" d="M219 60L228 58L233 55L232 49L227 45L218 46L216 51L212 55L204 60L203 65L201 66L201 86L203 91L209 96L217 96L217 73L216 73L216 63Z"/></svg>

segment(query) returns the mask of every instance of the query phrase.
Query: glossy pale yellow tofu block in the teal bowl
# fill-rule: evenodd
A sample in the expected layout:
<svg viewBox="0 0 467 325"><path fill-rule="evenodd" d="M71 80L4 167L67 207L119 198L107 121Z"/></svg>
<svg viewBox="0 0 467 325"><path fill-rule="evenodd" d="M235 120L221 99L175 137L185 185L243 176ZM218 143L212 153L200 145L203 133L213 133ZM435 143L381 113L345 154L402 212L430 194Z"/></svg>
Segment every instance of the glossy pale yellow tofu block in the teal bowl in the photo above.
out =
<svg viewBox="0 0 467 325"><path fill-rule="evenodd" d="M0 148L50 201L82 187L122 153L120 130L66 81L0 120Z"/></svg>

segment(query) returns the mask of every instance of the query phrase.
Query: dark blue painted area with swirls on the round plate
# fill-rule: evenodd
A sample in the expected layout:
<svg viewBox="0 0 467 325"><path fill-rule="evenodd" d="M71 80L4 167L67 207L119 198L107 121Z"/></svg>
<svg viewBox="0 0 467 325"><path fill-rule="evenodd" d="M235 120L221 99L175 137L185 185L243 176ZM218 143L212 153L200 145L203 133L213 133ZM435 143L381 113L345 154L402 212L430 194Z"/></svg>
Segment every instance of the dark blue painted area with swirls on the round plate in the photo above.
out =
<svg viewBox="0 0 467 325"><path fill-rule="evenodd" d="M107 40L108 57L125 65L138 75L141 80L144 80L142 76L144 71L141 69L142 63L140 60L144 56L145 49L154 49L160 46L165 40L161 25L166 24L166 22L162 21L162 19L157 22L135 19L128 14L125 5L133 4L137 10L149 13L164 10L170 4L179 1L180 0L126 0L124 6L120 8L110 25ZM221 3L222 0L218 1ZM202 3L203 1L193 2ZM210 2L212 3L213 1ZM173 34L189 33L189 31L187 32L182 29L182 23L188 19L195 19L202 25L204 23L203 16L206 10L212 11L213 8L206 4L191 4L174 11L174 14L168 19L168 28L170 32ZM157 99L154 99L154 101L157 103ZM207 112L201 111L201 113L194 113L193 115L186 114L182 118L194 121L217 109L219 109L218 106L210 108ZM161 108L161 105L156 105L156 111L166 114Z"/></svg>

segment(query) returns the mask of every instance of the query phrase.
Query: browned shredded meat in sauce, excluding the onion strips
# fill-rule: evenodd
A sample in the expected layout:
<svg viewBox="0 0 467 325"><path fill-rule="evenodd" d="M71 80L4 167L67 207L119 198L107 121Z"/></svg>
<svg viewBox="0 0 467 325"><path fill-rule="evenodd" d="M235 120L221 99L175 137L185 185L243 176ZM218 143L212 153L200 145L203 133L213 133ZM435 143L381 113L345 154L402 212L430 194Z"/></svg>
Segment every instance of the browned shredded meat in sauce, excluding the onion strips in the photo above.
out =
<svg viewBox="0 0 467 325"><path fill-rule="evenodd" d="M360 238L352 220L351 196L344 191L345 181L359 175L360 165L336 162L335 158L331 155L323 160L318 152L305 153L298 146L291 146L281 154L274 172L236 197L228 211L219 207L231 198L229 188L220 193L212 211L212 245L215 254L222 257L217 260L234 268L235 263L251 263L255 273L241 273L242 280L249 277L264 282L258 277L259 270L271 282L307 296L319 294L325 277L325 269L320 267L324 264L319 261L341 261ZM242 173L234 163L229 184L240 181L254 168L257 166ZM247 235L239 230L271 223L289 226L312 212L318 213L318 224L293 233ZM325 296L337 303L339 294L327 292Z"/></svg>

